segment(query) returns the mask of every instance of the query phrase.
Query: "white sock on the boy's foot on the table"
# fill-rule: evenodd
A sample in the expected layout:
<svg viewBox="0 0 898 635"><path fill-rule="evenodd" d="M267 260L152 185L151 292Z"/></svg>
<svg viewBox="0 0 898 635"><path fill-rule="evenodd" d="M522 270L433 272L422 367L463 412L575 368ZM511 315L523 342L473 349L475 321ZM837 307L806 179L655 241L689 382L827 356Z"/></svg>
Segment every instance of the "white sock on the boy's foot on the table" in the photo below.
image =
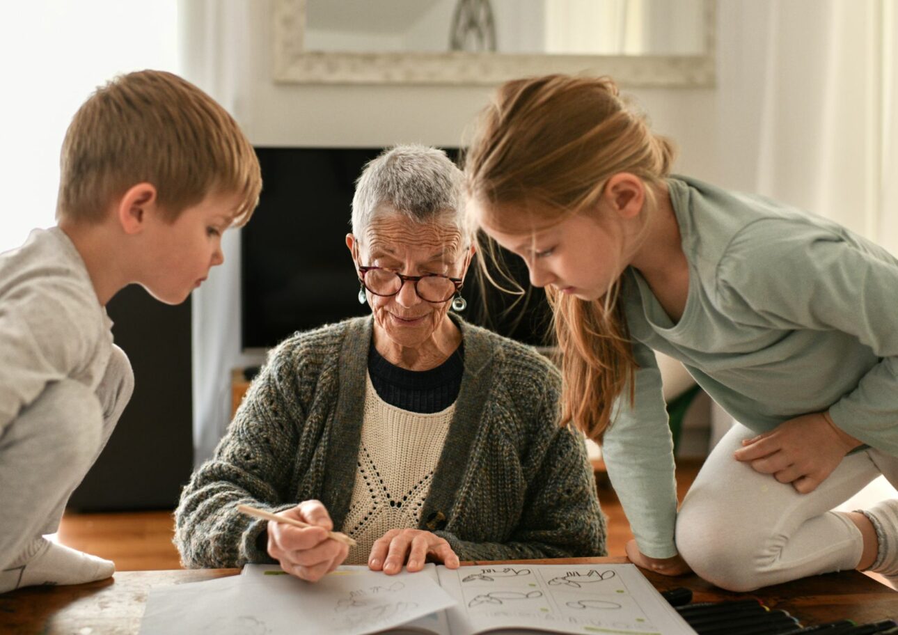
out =
<svg viewBox="0 0 898 635"><path fill-rule="evenodd" d="M114 571L110 560L38 537L8 569L0 571L0 593L22 586L79 585L109 578Z"/></svg>

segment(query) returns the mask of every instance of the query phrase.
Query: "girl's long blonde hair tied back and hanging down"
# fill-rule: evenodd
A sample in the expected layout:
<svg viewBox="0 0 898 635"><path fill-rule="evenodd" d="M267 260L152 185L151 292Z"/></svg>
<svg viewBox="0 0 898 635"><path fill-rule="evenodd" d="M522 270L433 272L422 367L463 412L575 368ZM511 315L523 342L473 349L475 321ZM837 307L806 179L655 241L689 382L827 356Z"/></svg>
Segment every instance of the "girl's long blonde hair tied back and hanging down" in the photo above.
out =
<svg viewBox="0 0 898 635"><path fill-rule="evenodd" d="M648 186L670 173L674 147L621 99L608 77L547 75L507 82L482 111L465 156L472 219L500 231L560 223L602 196L618 172ZM653 187L647 207L655 206ZM644 210L645 211L645 210ZM490 250L481 249L481 253ZM618 295L621 281L585 301L546 287L561 353L561 424L601 440L637 363Z"/></svg>

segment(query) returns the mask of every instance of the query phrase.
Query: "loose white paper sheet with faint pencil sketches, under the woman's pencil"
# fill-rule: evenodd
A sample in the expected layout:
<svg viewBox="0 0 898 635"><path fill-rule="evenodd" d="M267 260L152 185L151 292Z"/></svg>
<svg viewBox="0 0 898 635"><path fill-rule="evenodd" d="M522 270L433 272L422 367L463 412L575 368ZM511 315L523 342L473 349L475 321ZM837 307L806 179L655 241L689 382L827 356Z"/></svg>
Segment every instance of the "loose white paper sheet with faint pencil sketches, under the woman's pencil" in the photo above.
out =
<svg viewBox="0 0 898 635"><path fill-rule="evenodd" d="M278 571L251 566L240 576L154 589L140 635L365 635L418 618L438 625L438 616L426 616L454 603L433 568L386 576L340 567L314 584Z"/></svg>

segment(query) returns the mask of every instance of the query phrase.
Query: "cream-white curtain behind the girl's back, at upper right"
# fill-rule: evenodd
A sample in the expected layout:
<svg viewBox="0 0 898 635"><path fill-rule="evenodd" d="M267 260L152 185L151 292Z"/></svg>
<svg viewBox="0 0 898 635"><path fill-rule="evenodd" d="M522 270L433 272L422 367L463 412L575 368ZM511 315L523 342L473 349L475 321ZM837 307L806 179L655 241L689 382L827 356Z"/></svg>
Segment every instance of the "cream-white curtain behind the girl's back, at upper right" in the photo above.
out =
<svg viewBox="0 0 898 635"><path fill-rule="evenodd" d="M895 5L722 0L718 139L728 184L898 255ZM731 419L721 410L714 419L719 437ZM874 490L867 500L898 496L884 480Z"/></svg>

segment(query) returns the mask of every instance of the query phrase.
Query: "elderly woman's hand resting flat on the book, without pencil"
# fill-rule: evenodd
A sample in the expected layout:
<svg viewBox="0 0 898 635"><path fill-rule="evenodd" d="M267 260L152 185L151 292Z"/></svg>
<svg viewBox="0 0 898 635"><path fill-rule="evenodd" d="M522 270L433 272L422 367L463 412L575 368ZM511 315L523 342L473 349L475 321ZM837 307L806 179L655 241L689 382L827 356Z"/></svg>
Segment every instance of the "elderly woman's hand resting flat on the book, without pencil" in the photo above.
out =
<svg viewBox="0 0 898 635"><path fill-rule="evenodd" d="M391 529L374 542L368 568L392 575L399 573L406 561L409 571L420 571L428 560L458 569L458 556L438 535L421 529Z"/></svg>

